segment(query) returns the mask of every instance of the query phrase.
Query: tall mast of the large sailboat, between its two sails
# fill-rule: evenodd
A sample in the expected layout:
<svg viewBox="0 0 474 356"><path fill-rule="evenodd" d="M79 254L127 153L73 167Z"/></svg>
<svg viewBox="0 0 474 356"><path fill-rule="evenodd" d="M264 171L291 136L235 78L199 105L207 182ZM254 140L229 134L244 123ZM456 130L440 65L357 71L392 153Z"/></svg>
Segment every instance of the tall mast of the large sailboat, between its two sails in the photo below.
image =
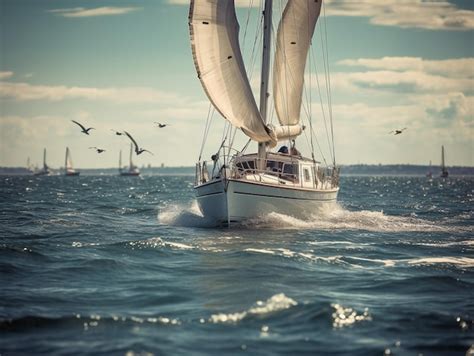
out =
<svg viewBox="0 0 474 356"><path fill-rule="evenodd" d="M268 107L268 80L270 75L270 49L272 34L272 5L273 0L265 0L263 10L263 53L262 53L262 73L260 76L260 115L263 122L267 122ZM258 144L258 169L265 169L265 159L267 156L266 144Z"/></svg>

